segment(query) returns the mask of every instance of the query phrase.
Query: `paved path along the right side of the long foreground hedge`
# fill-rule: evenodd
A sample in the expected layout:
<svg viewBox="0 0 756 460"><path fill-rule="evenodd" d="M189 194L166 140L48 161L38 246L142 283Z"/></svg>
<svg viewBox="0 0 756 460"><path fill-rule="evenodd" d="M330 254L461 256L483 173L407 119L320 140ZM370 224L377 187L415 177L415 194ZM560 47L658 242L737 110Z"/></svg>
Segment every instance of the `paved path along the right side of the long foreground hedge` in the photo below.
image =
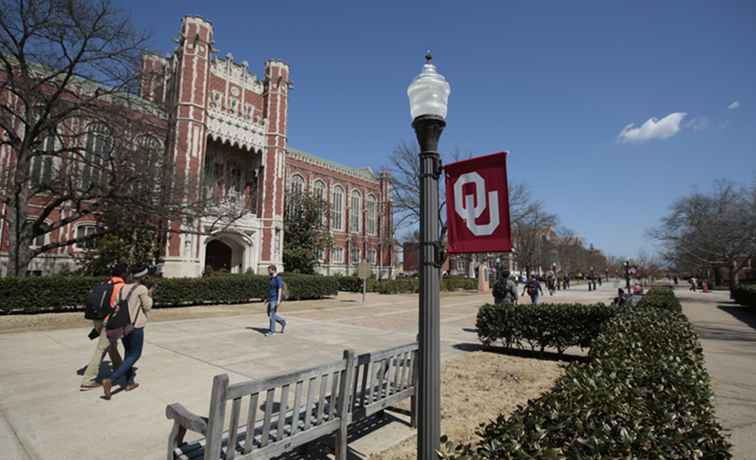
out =
<svg viewBox="0 0 756 460"><path fill-rule="evenodd" d="M756 458L756 312L729 301L727 292L676 291L683 311L696 327L714 403L731 432L737 459Z"/></svg>

